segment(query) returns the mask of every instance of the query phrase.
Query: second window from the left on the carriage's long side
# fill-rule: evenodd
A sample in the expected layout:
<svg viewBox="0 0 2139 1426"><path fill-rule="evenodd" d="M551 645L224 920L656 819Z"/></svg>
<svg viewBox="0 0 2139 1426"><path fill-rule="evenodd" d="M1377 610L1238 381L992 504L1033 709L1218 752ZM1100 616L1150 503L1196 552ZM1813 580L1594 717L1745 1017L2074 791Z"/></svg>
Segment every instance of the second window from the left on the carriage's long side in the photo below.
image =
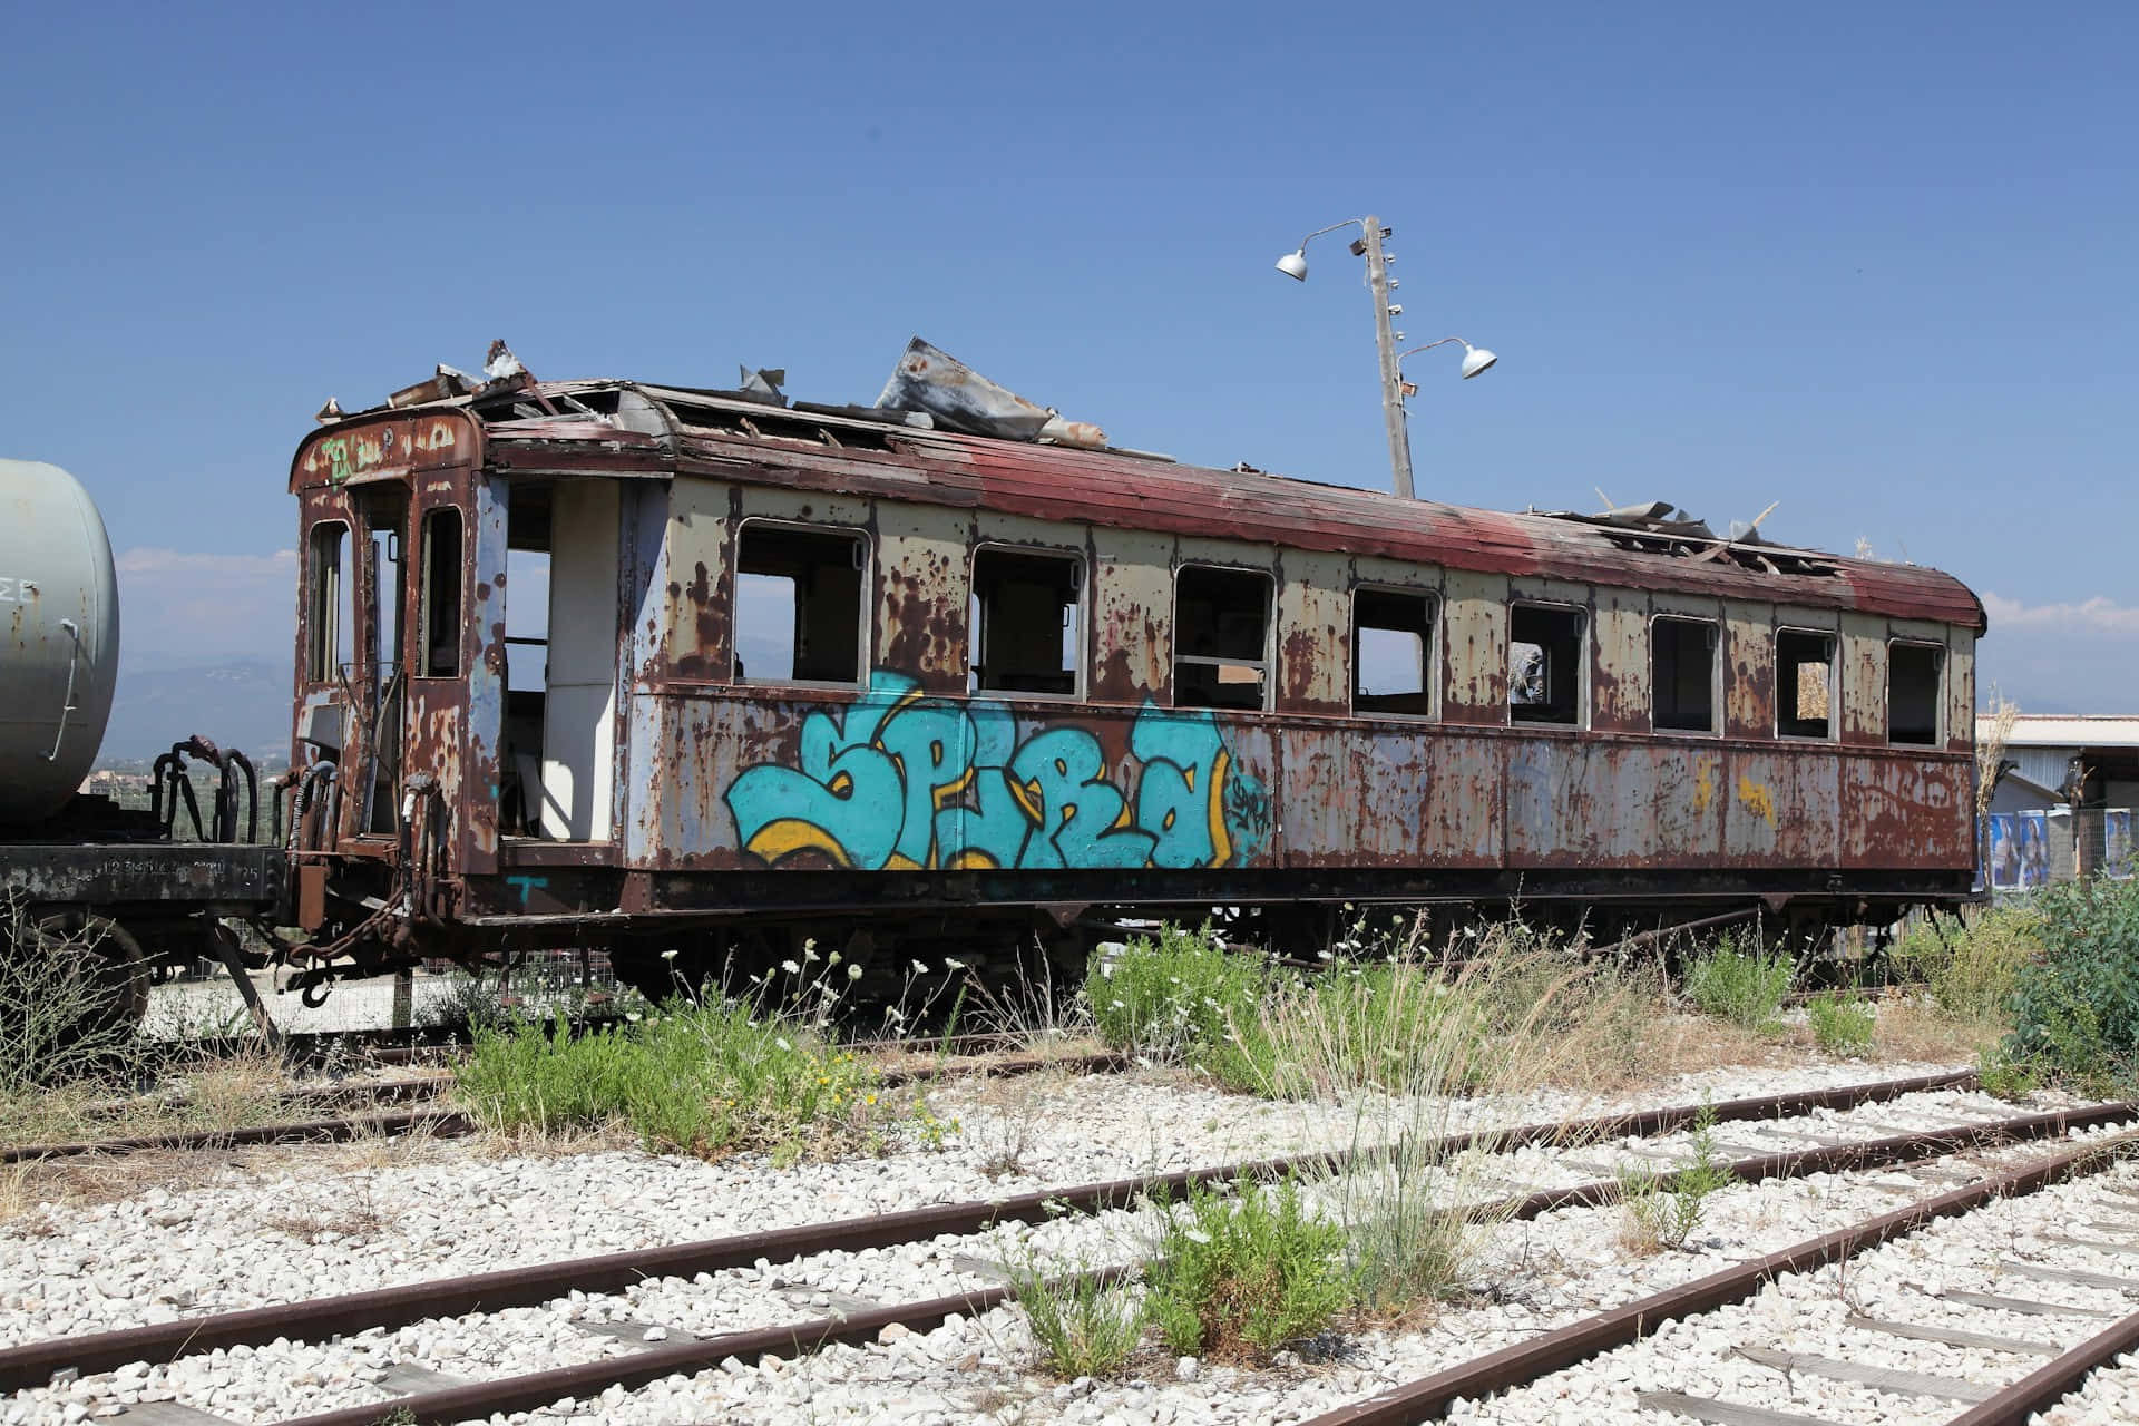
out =
<svg viewBox="0 0 2139 1426"><path fill-rule="evenodd" d="M969 688L1076 697L1082 584L1074 554L975 549Z"/></svg>

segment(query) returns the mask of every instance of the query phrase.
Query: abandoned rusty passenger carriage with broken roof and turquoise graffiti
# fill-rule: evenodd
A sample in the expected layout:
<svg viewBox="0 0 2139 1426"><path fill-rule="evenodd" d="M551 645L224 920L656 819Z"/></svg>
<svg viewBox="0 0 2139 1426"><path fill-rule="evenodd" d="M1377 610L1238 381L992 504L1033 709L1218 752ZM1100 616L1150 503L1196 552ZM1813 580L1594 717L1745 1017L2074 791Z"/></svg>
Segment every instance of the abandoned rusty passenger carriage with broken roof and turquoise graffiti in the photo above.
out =
<svg viewBox="0 0 2139 1426"><path fill-rule="evenodd" d="M1970 887L1929 569L618 381L355 415L291 490L299 915L359 962Z"/></svg>

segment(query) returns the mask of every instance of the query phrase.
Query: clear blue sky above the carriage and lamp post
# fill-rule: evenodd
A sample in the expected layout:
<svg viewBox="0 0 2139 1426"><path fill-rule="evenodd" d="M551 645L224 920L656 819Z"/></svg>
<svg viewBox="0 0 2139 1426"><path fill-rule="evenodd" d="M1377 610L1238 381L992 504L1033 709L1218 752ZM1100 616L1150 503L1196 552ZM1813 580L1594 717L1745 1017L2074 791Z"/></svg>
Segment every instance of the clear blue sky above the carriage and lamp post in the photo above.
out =
<svg viewBox="0 0 2139 1426"><path fill-rule="evenodd" d="M1780 500L1970 582L2026 708L2139 712L2135 51L2111 4L24 11L0 455L103 502L139 667L287 658L310 413L496 336L866 402L922 334L1386 485L1358 263L1271 269L1375 212L1410 342L1502 353L1412 370L1420 494Z"/></svg>

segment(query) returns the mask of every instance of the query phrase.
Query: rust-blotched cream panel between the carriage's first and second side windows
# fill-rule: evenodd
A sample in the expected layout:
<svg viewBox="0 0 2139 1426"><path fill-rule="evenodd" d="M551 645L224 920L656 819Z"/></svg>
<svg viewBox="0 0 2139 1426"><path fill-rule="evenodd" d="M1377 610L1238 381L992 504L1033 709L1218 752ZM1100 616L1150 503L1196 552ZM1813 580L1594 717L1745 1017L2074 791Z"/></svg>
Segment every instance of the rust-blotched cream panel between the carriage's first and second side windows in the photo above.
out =
<svg viewBox="0 0 2139 1426"><path fill-rule="evenodd" d="M965 693L971 532L965 511L881 502L877 526L877 661L928 693Z"/></svg>

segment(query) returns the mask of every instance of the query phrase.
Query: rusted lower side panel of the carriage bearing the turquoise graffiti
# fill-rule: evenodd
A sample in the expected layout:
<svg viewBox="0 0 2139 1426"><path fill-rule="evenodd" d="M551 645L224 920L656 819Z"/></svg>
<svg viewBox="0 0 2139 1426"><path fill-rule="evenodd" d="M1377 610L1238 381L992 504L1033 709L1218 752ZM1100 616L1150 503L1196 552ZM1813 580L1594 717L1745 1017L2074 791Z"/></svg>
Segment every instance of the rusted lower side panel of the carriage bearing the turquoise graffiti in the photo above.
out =
<svg viewBox="0 0 2139 1426"><path fill-rule="evenodd" d="M1275 864L1277 740L1209 710L1012 708L877 669L853 699L674 699L661 866Z"/></svg>

